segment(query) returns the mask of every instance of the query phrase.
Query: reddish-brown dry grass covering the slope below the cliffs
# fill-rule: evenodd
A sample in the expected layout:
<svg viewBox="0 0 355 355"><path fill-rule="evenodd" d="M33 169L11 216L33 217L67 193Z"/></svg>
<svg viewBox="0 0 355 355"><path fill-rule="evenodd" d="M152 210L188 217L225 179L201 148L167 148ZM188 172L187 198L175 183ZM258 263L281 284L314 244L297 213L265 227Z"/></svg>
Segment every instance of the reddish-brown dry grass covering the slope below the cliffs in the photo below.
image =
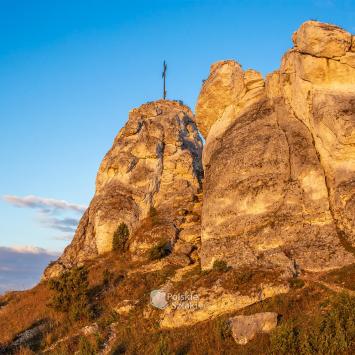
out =
<svg viewBox="0 0 355 355"><path fill-rule="evenodd" d="M321 305L326 304L332 294L319 284L308 283L301 288L292 288L288 294L275 296L214 320L191 327L161 330L159 328L161 311L148 305L149 294L174 275L174 267L141 273L139 270L143 264L132 262L127 255L119 253L101 256L88 263L87 267L91 300L96 309L95 319L69 324L65 315L56 313L46 306L51 291L45 284L41 284L32 290L14 292L0 298L0 304L4 305L0 309L0 342L11 341L16 334L30 328L36 322L49 319L52 326L44 334L39 349L55 343L64 336L72 337L58 347L58 354L75 353L82 346L80 343L83 343L83 339L79 336L74 337L74 334L92 322L98 323L101 340L109 336L109 325L117 323L116 348L125 350L126 354L156 354L159 351L180 355L268 354L270 350L268 335L259 335L246 346L239 346L230 335L226 335L224 322L236 314L273 311L280 315L281 322L294 321L302 327L307 327L310 319L324 311ZM106 272L106 281L105 270L109 271L109 277ZM133 270L136 272L132 272ZM329 273L325 277L350 288L353 285L352 280L355 279L355 266ZM175 288L183 292L199 287L208 288L216 282L232 292L247 293L252 288L257 289L261 283L277 282L277 272L276 276L273 270L229 269L202 272L196 266L184 275L183 280L177 283ZM138 301L134 309L124 316L115 313L113 308L127 299ZM145 313L147 310L148 315ZM95 338L92 341L98 340ZM21 351L23 354L31 353L31 350L26 348Z"/></svg>

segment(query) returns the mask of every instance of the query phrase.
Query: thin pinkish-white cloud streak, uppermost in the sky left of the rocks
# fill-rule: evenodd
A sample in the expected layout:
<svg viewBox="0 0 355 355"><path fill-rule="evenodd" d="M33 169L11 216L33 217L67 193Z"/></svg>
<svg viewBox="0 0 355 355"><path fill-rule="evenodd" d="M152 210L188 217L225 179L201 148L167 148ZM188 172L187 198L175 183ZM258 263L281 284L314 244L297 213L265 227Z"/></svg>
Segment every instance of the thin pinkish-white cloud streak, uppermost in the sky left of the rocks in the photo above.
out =
<svg viewBox="0 0 355 355"><path fill-rule="evenodd" d="M5 195L3 199L11 203L16 207L22 208L34 208L41 210L43 212L53 211L53 210L64 210L64 211L76 211L83 213L86 209L86 206L78 205L75 203L70 203L65 200L56 200L53 198L45 198L34 195L29 196L14 196L14 195Z"/></svg>

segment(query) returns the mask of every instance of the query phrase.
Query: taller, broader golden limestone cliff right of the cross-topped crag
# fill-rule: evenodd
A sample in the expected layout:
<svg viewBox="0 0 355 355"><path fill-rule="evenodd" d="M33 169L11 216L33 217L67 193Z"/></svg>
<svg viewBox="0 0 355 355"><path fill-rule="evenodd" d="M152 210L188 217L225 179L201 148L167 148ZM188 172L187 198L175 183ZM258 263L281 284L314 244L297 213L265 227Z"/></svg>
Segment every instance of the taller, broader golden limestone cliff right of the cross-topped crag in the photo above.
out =
<svg viewBox="0 0 355 355"><path fill-rule="evenodd" d="M295 274L354 262L342 245L355 243L353 38L306 22L265 82L234 61L211 66L196 106L203 268L222 259Z"/></svg>

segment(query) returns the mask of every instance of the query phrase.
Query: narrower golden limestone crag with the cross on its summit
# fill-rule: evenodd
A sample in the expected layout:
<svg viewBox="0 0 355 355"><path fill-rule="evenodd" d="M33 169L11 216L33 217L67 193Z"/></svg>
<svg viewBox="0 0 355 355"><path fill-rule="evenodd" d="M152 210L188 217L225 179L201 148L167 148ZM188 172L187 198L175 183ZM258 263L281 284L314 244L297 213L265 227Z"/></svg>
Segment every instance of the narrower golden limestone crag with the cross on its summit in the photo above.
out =
<svg viewBox="0 0 355 355"><path fill-rule="evenodd" d="M133 109L101 163L95 196L73 242L45 277L112 250L121 222L129 227L131 252L139 253L147 243L134 243L135 231L152 207L163 225L153 237L159 240L168 231L166 236L174 240L200 192L201 154L202 141L188 107L160 100Z"/></svg>

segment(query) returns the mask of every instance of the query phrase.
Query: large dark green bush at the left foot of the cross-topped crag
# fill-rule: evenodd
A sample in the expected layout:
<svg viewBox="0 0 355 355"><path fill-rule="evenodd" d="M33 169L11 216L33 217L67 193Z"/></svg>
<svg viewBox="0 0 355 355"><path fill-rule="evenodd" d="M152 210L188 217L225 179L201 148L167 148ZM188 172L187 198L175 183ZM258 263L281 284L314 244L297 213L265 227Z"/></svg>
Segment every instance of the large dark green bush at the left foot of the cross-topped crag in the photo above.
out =
<svg viewBox="0 0 355 355"><path fill-rule="evenodd" d="M49 306L56 311L68 313L71 320L90 318L92 310L88 287L86 268L74 267L59 278L49 281L49 288L55 292Z"/></svg>

